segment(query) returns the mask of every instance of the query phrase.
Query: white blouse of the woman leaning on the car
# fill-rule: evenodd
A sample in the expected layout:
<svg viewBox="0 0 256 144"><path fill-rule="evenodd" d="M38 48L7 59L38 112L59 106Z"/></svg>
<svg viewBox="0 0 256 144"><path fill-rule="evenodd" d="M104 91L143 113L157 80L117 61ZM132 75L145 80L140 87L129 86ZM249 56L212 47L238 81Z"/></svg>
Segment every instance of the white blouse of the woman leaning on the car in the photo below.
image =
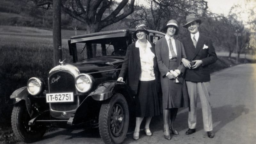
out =
<svg viewBox="0 0 256 144"><path fill-rule="evenodd" d="M141 72L140 72L140 81L150 81L155 80L155 73L154 73L154 53L151 51L151 44L147 40L147 48L146 51L140 46L139 40L136 41L135 47L139 47L140 51L140 65L141 65Z"/></svg>

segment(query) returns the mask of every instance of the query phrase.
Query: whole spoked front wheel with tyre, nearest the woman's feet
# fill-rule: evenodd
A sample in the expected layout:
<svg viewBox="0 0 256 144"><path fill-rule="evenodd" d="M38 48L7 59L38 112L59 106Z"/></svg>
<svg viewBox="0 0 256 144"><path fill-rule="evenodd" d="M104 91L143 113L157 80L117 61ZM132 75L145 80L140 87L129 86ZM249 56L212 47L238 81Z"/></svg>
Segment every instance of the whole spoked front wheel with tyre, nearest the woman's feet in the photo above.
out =
<svg viewBox="0 0 256 144"><path fill-rule="evenodd" d="M115 94L100 108L99 131L105 143L124 141L129 126L129 109L122 94Z"/></svg>

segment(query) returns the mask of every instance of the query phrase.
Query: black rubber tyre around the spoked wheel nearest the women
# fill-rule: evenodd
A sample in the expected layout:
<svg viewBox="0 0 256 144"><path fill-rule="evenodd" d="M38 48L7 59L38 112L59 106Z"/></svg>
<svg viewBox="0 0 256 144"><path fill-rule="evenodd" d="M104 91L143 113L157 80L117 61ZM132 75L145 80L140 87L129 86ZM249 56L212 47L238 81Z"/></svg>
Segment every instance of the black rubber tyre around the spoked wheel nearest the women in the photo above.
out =
<svg viewBox="0 0 256 144"><path fill-rule="evenodd" d="M112 112L113 106L116 103L119 104L123 108L123 113L124 113L123 132L118 137L116 137L112 134L111 127L110 127L111 112ZM124 141L124 138L126 137L128 127L129 127L128 104L127 104L124 96L122 94L117 93L117 94L113 95L113 97L110 100L104 102L101 105L100 114L99 114L100 137L107 144L122 143Z"/></svg>

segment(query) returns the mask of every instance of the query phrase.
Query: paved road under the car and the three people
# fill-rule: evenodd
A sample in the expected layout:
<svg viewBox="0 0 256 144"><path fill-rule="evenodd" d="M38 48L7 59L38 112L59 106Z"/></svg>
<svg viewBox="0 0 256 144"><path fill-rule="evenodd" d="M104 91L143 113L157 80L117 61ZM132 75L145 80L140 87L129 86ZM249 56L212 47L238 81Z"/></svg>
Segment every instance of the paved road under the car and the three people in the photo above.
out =
<svg viewBox="0 0 256 144"><path fill-rule="evenodd" d="M196 133L186 135L188 128L188 109L181 109L175 125L180 135L172 140L163 137L162 116L154 117L151 122L153 136L140 133L140 139L132 139L132 132L127 134L124 144L255 144L256 142L256 64L242 64L215 72L211 76L211 105L213 131L210 139L203 130L201 105L197 108L198 125ZM141 125L143 128L143 124ZM97 130L61 129L46 134L37 144L103 143Z"/></svg>

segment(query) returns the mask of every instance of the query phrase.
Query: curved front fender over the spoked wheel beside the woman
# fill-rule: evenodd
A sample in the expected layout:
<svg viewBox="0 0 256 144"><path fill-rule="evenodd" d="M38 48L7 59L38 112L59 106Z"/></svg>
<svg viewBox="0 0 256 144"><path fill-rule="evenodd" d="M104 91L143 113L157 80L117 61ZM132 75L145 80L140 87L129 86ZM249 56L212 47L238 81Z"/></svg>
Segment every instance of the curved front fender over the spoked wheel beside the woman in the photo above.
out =
<svg viewBox="0 0 256 144"><path fill-rule="evenodd" d="M88 96L91 96L96 101L104 101L110 98L113 95L114 89L129 89L128 86L120 81L106 81L101 83L96 90L90 93Z"/></svg>

